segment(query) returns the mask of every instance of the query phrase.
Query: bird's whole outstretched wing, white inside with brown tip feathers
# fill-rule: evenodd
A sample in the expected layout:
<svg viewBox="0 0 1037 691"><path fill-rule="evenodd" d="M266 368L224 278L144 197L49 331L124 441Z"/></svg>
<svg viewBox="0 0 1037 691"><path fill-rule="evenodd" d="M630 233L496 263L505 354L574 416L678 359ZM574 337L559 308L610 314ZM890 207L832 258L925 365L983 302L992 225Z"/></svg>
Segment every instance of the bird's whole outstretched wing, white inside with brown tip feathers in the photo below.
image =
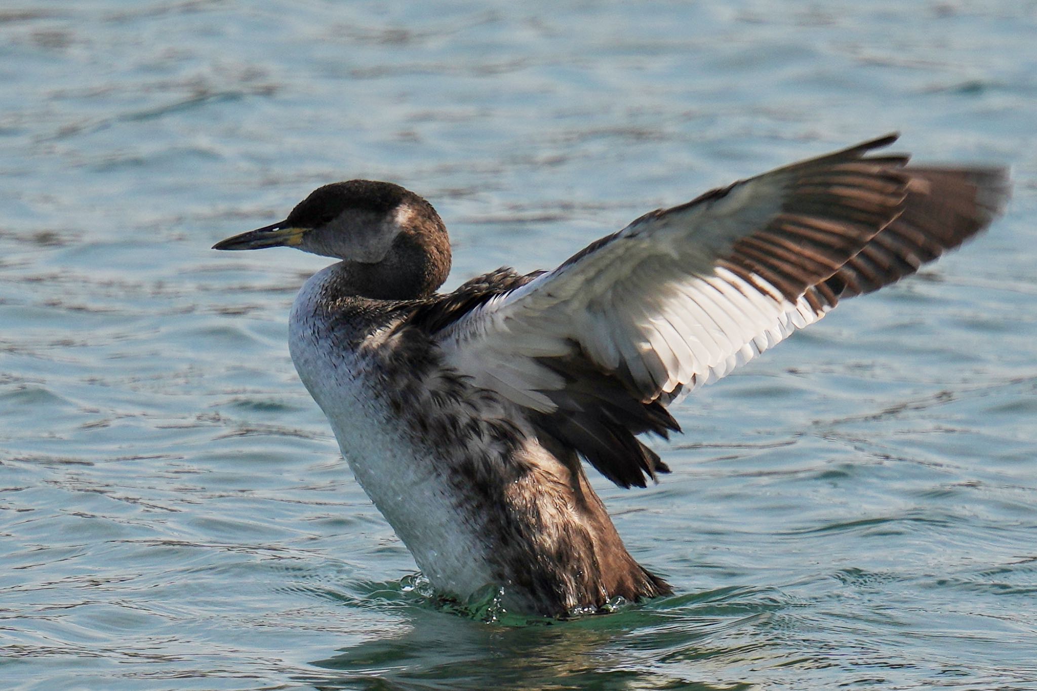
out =
<svg viewBox="0 0 1037 691"><path fill-rule="evenodd" d="M667 468L634 435L841 298L888 285L984 228L993 168L869 154L890 135L656 210L557 269L437 324L446 362L527 408L564 459L618 485Z"/></svg>

